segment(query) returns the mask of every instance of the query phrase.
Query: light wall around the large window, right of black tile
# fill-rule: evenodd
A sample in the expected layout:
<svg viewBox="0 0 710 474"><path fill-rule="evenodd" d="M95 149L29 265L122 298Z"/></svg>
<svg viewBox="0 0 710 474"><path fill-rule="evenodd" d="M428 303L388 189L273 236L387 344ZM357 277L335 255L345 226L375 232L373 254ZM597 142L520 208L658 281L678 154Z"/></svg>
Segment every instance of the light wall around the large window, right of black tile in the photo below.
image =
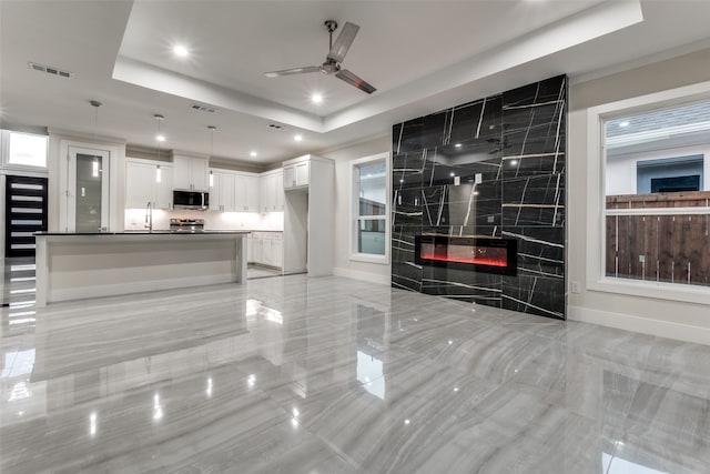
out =
<svg viewBox="0 0 710 474"><path fill-rule="evenodd" d="M587 235L587 109L710 80L710 49L570 87L568 162L568 281L585 282ZM570 292L569 317L710 344L710 307L653 297Z"/></svg>

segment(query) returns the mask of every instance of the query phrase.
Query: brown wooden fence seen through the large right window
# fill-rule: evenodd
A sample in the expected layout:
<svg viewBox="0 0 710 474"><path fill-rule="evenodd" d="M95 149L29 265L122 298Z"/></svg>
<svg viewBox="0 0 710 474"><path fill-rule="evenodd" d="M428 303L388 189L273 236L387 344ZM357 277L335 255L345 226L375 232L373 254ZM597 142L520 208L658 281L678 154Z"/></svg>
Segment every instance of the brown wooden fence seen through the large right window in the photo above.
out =
<svg viewBox="0 0 710 474"><path fill-rule="evenodd" d="M710 285L710 191L607 196L606 268L608 276Z"/></svg>

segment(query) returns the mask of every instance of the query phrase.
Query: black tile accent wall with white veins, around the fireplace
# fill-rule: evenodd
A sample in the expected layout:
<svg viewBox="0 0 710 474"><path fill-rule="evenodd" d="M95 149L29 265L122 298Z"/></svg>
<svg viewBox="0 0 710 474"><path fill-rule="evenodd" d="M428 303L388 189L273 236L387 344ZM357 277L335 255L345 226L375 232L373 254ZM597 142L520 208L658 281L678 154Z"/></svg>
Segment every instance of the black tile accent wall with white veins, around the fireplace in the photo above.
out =
<svg viewBox="0 0 710 474"><path fill-rule="evenodd" d="M566 319L567 77L393 127L392 285ZM418 234L515 239L516 276L414 259Z"/></svg>

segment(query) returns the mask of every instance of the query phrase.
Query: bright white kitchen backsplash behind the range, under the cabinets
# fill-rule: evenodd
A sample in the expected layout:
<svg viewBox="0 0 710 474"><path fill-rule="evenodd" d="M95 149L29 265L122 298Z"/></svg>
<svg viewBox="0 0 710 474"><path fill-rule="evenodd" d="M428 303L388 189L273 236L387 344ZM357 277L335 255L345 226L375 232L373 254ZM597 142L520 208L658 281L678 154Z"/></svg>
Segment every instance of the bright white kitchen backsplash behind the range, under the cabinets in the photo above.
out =
<svg viewBox="0 0 710 474"><path fill-rule="evenodd" d="M280 231L284 230L284 213L268 212L217 212L217 211L153 211L153 229L169 230L171 219L204 219L204 228L213 231ZM145 209L126 209L124 218L126 231L145 229Z"/></svg>

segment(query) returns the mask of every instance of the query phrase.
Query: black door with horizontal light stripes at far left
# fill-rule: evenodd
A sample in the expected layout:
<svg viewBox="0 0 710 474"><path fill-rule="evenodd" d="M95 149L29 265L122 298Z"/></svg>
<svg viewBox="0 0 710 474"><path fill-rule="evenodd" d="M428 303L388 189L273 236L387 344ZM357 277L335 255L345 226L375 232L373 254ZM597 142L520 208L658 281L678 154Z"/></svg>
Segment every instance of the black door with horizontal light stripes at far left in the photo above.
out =
<svg viewBox="0 0 710 474"><path fill-rule="evenodd" d="M47 230L47 178L6 177L4 255L34 255L34 235Z"/></svg>

